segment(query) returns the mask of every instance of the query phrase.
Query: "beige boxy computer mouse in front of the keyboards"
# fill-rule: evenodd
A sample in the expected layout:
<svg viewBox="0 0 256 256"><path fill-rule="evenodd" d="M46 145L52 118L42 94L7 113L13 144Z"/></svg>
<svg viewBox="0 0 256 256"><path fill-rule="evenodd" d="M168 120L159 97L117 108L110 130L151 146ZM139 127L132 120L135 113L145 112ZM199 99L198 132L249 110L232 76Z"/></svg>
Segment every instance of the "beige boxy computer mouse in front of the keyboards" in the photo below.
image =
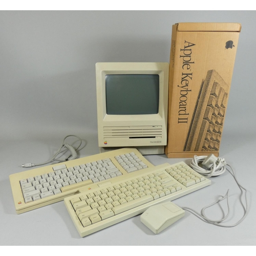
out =
<svg viewBox="0 0 256 256"><path fill-rule="evenodd" d="M172 202L151 206L140 216L140 221L158 234L185 215L185 211Z"/></svg>

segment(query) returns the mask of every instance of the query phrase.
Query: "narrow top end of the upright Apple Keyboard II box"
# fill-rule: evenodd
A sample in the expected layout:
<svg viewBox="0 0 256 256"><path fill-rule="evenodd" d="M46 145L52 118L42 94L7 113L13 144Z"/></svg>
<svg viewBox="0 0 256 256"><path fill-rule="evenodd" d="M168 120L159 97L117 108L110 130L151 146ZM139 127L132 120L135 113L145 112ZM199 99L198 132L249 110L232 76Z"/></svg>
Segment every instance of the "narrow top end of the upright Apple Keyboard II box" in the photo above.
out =
<svg viewBox="0 0 256 256"><path fill-rule="evenodd" d="M178 23L177 25L177 31L241 31L239 23Z"/></svg>

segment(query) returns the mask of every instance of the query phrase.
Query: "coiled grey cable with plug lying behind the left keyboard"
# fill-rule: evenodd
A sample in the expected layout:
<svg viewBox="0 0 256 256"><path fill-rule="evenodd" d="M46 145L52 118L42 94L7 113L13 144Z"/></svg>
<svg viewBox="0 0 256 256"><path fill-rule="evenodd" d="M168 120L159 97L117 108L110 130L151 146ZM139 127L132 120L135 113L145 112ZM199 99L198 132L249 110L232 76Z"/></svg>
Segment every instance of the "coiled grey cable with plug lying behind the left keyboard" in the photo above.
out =
<svg viewBox="0 0 256 256"><path fill-rule="evenodd" d="M80 144L79 144L79 146L78 146L76 149L75 149L73 146L71 146L70 144L68 144L68 143L65 143L65 144L64 144L65 140L66 140L68 137L76 137L76 138L78 138L78 139L80 140ZM70 161L70 160L77 159L77 153L76 153L76 151L79 149L79 147L81 146L81 144L82 144L81 138L79 138L79 137L76 136L76 135L68 135L68 136L66 136L66 137L63 139L60 148L58 149L58 151L56 152L56 154L53 156L53 158L52 158L51 160L46 161L46 162L44 162L44 163L36 163L36 164L35 164L35 163L25 163L25 164L22 164L22 167L34 167L34 166L38 166L38 165L44 165L44 164L51 163L51 162L53 162L54 160L57 160L57 161L59 161L59 162L64 162L64 161ZM60 153L63 152L63 151L60 152L62 147L67 148L67 150L69 150L69 151L71 152L71 155L70 155L68 158L66 158L66 159L56 159L57 156L58 156L58 154L60 154Z"/></svg>

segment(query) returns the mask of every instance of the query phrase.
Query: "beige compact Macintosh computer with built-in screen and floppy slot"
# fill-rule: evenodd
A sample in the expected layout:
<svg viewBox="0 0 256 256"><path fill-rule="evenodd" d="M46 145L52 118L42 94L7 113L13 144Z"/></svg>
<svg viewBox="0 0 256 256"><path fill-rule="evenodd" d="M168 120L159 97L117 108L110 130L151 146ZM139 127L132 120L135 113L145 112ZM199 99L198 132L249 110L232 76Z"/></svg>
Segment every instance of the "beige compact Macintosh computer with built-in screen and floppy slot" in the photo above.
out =
<svg viewBox="0 0 256 256"><path fill-rule="evenodd" d="M164 154L168 73L168 63L96 63L100 152L133 146Z"/></svg>

